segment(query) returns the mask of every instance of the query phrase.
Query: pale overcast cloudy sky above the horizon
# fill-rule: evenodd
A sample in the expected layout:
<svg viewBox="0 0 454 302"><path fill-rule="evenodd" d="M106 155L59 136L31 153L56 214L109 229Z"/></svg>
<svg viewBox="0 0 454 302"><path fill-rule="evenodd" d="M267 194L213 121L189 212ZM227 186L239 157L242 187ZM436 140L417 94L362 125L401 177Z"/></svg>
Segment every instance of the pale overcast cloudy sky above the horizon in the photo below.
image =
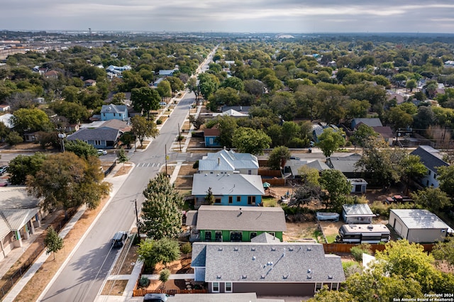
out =
<svg viewBox="0 0 454 302"><path fill-rule="evenodd" d="M0 0L0 30L454 33L453 0Z"/></svg>

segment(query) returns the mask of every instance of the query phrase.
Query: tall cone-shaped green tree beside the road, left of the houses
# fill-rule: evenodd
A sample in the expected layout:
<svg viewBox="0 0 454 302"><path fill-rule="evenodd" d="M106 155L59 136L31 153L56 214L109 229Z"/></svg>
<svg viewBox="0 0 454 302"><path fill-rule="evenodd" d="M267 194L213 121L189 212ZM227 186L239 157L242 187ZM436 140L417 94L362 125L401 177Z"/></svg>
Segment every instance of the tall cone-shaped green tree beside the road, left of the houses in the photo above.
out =
<svg viewBox="0 0 454 302"><path fill-rule="evenodd" d="M155 240L177 237L181 231L183 198L170 184L165 173L150 179L143 196L145 201L139 221L140 232Z"/></svg>

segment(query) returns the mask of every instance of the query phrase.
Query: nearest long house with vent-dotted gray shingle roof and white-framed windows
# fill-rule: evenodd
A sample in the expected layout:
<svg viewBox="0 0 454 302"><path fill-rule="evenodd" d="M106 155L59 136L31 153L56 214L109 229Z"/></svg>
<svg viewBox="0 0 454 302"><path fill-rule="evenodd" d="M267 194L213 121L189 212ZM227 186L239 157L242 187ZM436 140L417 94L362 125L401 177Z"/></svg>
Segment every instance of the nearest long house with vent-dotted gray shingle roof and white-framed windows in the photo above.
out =
<svg viewBox="0 0 454 302"><path fill-rule="evenodd" d="M341 257L306 242L194 242L194 281L209 293L314 296L322 286L338 290L345 281Z"/></svg>

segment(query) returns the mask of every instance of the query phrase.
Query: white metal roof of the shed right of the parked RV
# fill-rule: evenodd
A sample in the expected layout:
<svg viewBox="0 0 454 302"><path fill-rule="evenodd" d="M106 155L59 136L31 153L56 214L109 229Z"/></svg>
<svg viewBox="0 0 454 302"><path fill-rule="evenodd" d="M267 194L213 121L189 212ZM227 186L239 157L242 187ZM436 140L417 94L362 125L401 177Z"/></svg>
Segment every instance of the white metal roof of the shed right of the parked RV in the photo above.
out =
<svg viewBox="0 0 454 302"><path fill-rule="evenodd" d="M443 222L434 213L419 209L392 209L391 212L402 220L409 229L448 229L449 225Z"/></svg>

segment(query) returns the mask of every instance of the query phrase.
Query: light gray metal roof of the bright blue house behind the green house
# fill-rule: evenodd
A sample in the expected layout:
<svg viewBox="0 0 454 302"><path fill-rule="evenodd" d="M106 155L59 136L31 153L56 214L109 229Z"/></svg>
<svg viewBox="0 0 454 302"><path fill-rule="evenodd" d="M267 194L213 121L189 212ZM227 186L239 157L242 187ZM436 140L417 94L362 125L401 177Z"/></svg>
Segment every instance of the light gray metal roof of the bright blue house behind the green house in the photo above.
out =
<svg viewBox="0 0 454 302"><path fill-rule="evenodd" d="M194 174L192 195L264 195L262 177L248 174Z"/></svg>

